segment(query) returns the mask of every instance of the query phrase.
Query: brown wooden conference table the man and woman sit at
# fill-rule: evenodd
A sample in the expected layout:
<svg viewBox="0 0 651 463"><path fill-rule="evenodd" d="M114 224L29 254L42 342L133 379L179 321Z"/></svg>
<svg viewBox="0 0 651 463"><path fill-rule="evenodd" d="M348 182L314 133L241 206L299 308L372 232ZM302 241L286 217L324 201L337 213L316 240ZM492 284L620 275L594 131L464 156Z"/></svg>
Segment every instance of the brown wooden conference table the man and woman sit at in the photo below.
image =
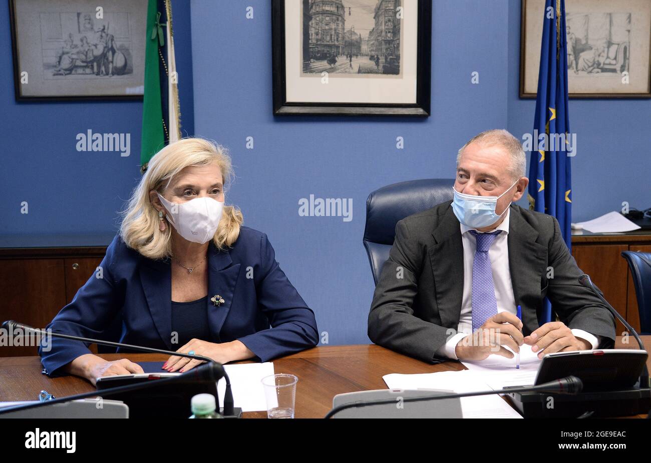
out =
<svg viewBox="0 0 651 463"><path fill-rule="evenodd" d="M644 345L651 343L651 336L642 336ZM633 337L622 345L618 337L618 349L637 349ZM128 358L133 362L163 362L163 354L100 354L107 360ZM246 363L246 362L242 362ZM298 379L296 390L296 417L324 417L332 406L332 398L344 392L386 389L382 380L388 373L434 373L465 369L459 362L443 362L431 365L398 354L378 345L320 346L307 351L273 360L276 373L292 373ZM651 360L647 360L651 369ZM48 378L42 375L38 356L0 358L0 401L35 400L41 390L55 397L64 397L94 390L81 378L67 376ZM246 412L246 418L266 418L267 412ZM633 417L646 417L636 415Z"/></svg>

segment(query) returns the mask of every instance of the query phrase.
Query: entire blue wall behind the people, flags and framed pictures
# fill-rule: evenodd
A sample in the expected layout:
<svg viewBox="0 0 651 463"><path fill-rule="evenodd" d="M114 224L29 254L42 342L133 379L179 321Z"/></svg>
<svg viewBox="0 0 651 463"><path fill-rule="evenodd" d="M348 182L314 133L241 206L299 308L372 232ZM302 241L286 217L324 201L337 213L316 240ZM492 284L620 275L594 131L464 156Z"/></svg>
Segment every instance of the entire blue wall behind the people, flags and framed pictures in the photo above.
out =
<svg viewBox="0 0 651 463"><path fill-rule="evenodd" d="M249 5L253 20L245 18ZM518 98L519 5L434 1L432 116L415 120L274 118L270 2L174 1L184 128L230 148L238 178L227 201L242 208L245 224L268 233L329 343L368 342L374 286L361 243L368 193L406 179L451 178L456 150L471 136L506 127L521 137L533 126L534 101ZM8 26L6 8L0 23ZM475 71L478 85L471 84ZM0 55L0 77L13 81L9 53ZM115 230L116 211L139 179L141 103L18 104L5 85L0 104L0 136L7 140L0 238ZM574 220L618 209L624 200L648 207L648 167L641 166L649 165L650 105L570 101L579 137ZM78 153L75 135L87 129L130 132L132 155ZM245 149L246 137L254 138L253 150ZM396 137L404 137L403 150ZM299 217L299 199L310 194L353 198L352 221ZM23 200L30 205L26 216Z"/></svg>

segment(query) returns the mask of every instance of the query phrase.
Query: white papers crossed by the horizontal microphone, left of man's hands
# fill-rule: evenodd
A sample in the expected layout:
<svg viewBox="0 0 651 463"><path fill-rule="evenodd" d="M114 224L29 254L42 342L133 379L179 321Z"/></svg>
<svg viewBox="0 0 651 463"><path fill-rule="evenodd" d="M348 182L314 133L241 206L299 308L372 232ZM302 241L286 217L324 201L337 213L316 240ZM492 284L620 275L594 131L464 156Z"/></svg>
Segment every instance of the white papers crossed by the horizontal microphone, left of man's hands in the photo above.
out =
<svg viewBox="0 0 651 463"><path fill-rule="evenodd" d="M482 383L475 371L441 371L439 373L420 373L384 375L389 389L435 389L450 390L457 393L488 391L490 386ZM461 410L464 418L521 418L504 399L497 394L462 397Z"/></svg>

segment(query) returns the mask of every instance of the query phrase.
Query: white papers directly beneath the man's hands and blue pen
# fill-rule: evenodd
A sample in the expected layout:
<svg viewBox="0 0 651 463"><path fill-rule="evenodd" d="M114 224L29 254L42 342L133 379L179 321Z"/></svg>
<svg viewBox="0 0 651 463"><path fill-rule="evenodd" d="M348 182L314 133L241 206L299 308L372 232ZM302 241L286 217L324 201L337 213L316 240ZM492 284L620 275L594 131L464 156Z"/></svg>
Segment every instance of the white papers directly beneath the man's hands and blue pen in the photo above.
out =
<svg viewBox="0 0 651 463"><path fill-rule="evenodd" d="M538 353L531 351L531 346L520 346L520 367L516 368L516 358L506 358L501 355L491 354L484 360L477 362L461 362L464 366L477 373L481 381L488 384L493 390L508 386L529 386L534 384L541 359Z"/></svg>

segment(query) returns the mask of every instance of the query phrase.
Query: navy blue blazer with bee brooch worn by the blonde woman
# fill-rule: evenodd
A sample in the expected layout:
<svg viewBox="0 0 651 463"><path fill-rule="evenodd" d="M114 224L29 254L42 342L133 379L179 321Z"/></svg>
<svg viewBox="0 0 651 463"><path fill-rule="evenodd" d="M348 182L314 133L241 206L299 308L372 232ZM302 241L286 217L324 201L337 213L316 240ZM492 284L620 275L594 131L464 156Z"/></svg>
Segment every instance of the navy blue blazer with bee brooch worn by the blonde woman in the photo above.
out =
<svg viewBox="0 0 651 463"><path fill-rule="evenodd" d="M102 274L92 274L46 329L178 350L181 346L171 342L171 261L145 258L117 235L100 267ZM223 304L215 306L210 301L214 295ZM207 305L210 339L203 340L239 339L261 362L318 344L314 313L279 267L267 235L252 228L241 227L237 241L226 250L210 242ZM103 332L120 318L118 339L106 339ZM49 376L62 374L62 366L91 353L81 341L56 337L49 347L48 352L38 349Z"/></svg>

